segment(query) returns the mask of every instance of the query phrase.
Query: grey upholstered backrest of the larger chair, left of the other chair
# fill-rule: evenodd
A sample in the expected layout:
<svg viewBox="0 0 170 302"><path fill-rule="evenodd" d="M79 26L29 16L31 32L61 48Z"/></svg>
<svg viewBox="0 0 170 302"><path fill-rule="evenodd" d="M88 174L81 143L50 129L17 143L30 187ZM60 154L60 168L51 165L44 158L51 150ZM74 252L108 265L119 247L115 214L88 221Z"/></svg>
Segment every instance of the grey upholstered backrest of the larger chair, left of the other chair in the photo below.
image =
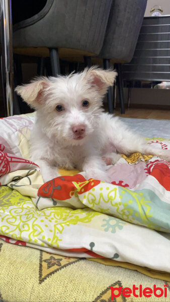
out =
<svg viewBox="0 0 170 302"><path fill-rule="evenodd" d="M49 11L15 25L13 45L19 47L73 48L99 54L112 0L48 0ZM35 2L36 4L36 2ZM44 8L45 9L45 8ZM28 21L28 26L27 26Z"/></svg>

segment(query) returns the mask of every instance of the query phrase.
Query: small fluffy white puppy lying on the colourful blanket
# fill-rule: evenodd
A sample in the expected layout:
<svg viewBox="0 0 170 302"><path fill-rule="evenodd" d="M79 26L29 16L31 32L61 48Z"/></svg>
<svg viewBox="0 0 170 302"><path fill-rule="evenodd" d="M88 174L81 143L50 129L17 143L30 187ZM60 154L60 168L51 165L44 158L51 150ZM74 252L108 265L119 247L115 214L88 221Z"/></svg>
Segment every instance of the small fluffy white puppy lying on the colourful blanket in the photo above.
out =
<svg viewBox="0 0 170 302"><path fill-rule="evenodd" d="M103 113L103 97L115 78L116 72L93 66L64 77L41 77L16 88L37 110L31 158L39 165L44 181L57 177L57 167L64 167L85 171L87 178L110 182L102 157L111 158L114 164L121 153L140 152L170 161L169 150L153 148L117 117ZM82 106L84 100L89 102L88 107ZM63 110L58 112L57 105ZM79 126L84 131L82 138L76 139L73 129Z"/></svg>

